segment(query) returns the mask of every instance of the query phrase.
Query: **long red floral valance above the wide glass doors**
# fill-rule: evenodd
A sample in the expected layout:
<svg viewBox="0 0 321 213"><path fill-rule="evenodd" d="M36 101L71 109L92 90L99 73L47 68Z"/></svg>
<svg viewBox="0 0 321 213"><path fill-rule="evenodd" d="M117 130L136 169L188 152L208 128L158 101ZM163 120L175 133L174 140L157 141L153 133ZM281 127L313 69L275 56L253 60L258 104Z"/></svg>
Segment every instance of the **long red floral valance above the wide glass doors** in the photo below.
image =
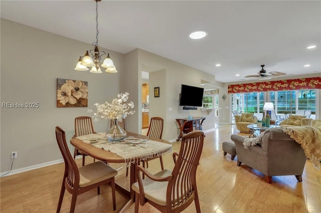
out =
<svg viewBox="0 0 321 213"><path fill-rule="evenodd" d="M321 88L321 77L297 78L288 80L262 81L228 85L228 93L260 91L280 91Z"/></svg>

